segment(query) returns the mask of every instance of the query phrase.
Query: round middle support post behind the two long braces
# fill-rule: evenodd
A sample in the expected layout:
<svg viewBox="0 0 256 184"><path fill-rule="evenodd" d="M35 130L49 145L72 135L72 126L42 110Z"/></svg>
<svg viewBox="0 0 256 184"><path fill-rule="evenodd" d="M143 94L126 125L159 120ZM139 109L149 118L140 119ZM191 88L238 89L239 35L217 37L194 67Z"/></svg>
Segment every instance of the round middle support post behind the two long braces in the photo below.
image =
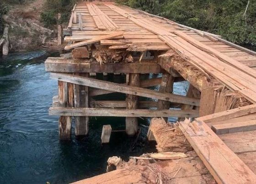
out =
<svg viewBox="0 0 256 184"><path fill-rule="evenodd" d="M128 85L131 87L138 87L139 84L139 74L130 73ZM135 95L128 94L126 96L127 109L136 109L139 106L139 97ZM136 117L126 117L125 128L128 135L135 135L138 131L138 119Z"/></svg>

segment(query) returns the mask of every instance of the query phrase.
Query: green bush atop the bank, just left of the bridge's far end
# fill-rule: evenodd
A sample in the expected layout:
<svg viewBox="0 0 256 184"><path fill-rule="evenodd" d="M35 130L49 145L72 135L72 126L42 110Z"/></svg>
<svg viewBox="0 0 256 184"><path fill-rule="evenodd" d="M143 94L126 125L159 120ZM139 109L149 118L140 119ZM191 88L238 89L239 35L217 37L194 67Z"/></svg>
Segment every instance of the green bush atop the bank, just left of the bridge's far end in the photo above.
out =
<svg viewBox="0 0 256 184"><path fill-rule="evenodd" d="M77 0L46 0L44 12L41 13L41 21L44 26L51 27L57 23L69 21L70 12ZM61 19L58 22L58 13L61 13Z"/></svg>

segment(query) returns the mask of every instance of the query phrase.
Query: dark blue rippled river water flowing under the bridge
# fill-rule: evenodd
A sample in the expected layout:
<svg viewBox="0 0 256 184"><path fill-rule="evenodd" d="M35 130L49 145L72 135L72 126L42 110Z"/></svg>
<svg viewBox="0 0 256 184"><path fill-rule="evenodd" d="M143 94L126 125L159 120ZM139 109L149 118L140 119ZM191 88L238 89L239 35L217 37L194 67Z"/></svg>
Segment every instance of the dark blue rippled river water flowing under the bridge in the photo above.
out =
<svg viewBox="0 0 256 184"><path fill-rule="evenodd" d="M44 69L45 59L58 55L33 51L0 58L0 183L65 184L105 172L110 156L127 159L155 150L145 141L148 119L139 120L141 134L135 144L135 138L112 133L110 144L101 145L102 125L125 129L124 118L101 117L91 118L88 137L77 140L72 133L71 142L59 142L58 117L48 116L57 82ZM176 85L175 92L185 93L184 86Z"/></svg>

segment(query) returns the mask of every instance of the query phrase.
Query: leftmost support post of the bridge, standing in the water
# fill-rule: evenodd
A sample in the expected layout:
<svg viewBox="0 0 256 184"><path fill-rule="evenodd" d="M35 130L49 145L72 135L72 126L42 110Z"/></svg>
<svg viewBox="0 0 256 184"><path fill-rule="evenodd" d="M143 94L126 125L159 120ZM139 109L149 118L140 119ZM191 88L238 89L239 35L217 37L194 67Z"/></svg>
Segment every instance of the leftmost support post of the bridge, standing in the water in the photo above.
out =
<svg viewBox="0 0 256 184"><path fill-rule="evenodd" d="M68 107L69 95L68 95L68 83L58 82L59 86L59 107ZM71 138L71 123L70 116L59 117L59 139L70 140Z"/></svg>

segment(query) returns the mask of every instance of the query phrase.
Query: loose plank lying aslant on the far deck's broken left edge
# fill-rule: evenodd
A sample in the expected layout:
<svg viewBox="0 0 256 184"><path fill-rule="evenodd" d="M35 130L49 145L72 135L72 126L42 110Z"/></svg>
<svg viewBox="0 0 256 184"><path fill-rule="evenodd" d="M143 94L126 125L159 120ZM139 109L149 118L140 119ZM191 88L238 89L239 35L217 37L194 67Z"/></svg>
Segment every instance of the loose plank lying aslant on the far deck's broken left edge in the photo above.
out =
<svg viewBox="0 0 256 184"><path fill-rule="evenodd" d="M78 43L71 44L69 46L65 46L65 50L69 50L69 49L72 49L72 48L75 48L75 47L92 44L92 43L95 43L95 42L101 41L101 40L112 39L112 38L115 38L117 36L122 36L122 35L123 35L123 31L117 31L117 32L109 34L109 35L99 36L99 37L93 38L91 40L81 41L81 42L78 42Z"/></svg>

